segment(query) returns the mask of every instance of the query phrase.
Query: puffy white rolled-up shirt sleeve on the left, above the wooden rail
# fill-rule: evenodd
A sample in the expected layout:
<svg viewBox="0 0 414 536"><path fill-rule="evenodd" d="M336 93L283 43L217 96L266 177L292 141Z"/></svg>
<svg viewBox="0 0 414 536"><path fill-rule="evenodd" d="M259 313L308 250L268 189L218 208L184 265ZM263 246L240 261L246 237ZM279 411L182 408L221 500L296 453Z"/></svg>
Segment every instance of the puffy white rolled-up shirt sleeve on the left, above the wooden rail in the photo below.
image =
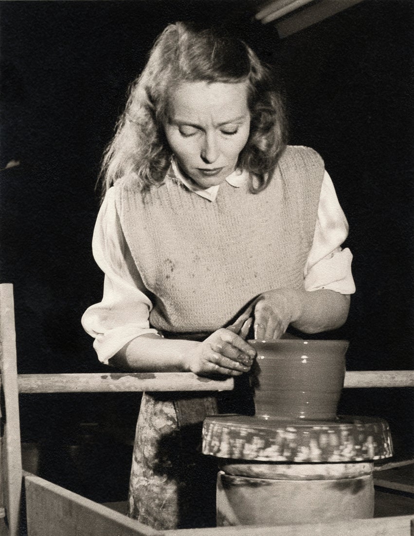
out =
<svg viewBox="0 0 414 536"><path fill-rule="evenodd" d="M82 326L95 338L99 361L108 363L125 344L144 333L157 333L149 325L152 303L126 244L116 210L114 189L105 196L96 220L92 250L105 274L102 301L89 307Z"/></svg>

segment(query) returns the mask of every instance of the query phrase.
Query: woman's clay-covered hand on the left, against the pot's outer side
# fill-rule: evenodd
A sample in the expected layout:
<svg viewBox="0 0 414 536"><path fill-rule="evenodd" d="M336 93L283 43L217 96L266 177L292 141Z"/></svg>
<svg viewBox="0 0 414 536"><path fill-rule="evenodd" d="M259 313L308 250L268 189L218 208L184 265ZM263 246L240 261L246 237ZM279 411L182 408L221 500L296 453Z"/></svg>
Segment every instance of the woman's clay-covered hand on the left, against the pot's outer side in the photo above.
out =
<svg viewBox="0 0 414 536"><path fill-rule="evenodd" d="M238 334L234 326L221 327L185 358L185 368L199 376L240 376L249 372L256 351Z"/></svg>

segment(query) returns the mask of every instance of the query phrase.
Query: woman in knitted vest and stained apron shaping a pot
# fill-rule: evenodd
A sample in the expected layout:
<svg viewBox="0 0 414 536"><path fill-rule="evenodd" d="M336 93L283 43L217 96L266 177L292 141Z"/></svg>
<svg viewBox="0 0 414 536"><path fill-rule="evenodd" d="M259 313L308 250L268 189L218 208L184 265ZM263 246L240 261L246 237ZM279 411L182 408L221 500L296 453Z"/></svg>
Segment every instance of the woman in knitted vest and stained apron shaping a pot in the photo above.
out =
<svg viewBox="0 0 414 536"><path fill-rule="evenodd" d="M82 323L104 363L246 377L250 326L277 339L288 326L317 333L346 320L347 221L319 155L286 146L270 70L242 41L168 26L102 174L93 250L104 296ZM144 393L132 517L164 529L214 524L217 470L198 452L202 420L217 411L212 397Z"/></svg>

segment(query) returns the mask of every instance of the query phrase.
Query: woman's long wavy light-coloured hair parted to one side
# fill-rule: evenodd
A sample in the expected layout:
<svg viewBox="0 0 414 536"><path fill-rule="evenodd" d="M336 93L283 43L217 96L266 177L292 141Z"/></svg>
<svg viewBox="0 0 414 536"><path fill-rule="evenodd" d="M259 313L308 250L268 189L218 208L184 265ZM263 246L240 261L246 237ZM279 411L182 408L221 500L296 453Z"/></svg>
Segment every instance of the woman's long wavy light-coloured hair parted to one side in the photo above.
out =
<svg viewBox="0 0 414 536"><path fill-rule="evenodd" d="M133 174L141 191L164 181L172 151L163 121L168 95L181 82L238 83L249 87L250 134L237 165L250 173L250 191L266 188L286 147L286 116L271 69L246 43L214 29L168 25L158 36L106 147L102 195L118 178Z"/></svg>

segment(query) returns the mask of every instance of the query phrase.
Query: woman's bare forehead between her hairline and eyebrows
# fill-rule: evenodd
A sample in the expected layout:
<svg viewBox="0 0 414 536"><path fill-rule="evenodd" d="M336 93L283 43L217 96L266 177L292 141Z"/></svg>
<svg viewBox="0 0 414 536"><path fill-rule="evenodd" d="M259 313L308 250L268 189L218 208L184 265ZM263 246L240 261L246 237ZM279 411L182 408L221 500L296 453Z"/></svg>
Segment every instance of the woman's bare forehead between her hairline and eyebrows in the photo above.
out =
<svg viewBox="0 0 414 536"><path fill-rule="evenodd" d="M231 120L248 113L246 82L226 84L214 82L183 82L168 98L168 111L174 119L217 121Z"/></svg>

